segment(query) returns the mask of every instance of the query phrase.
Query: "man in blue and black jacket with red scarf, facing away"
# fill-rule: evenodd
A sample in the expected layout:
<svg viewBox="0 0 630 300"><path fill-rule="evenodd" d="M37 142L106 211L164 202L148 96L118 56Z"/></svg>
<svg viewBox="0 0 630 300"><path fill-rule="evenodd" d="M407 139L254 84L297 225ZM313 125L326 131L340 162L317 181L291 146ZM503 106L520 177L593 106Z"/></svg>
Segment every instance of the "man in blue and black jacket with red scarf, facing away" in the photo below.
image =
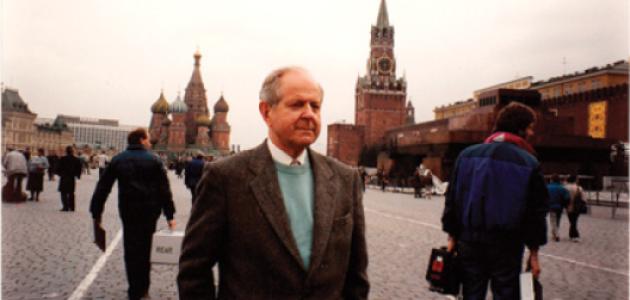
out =
<svg viewBox="0 0 630 300"><path fill-rule="evenodd" d="M534 277L547 242L547 188L534 149L535 112L512 102L484 144L464 149L451 175L442 228L461 262L464 299L519 299L524 246Z"/></svg>

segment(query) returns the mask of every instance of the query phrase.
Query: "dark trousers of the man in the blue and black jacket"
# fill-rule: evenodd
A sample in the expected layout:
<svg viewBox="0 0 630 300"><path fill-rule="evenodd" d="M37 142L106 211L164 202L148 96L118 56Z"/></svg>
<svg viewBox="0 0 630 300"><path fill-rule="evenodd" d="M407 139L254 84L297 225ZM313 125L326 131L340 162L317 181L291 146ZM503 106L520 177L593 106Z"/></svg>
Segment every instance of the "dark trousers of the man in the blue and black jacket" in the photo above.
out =
<svg viewBox="0 0 630 300"><path fill-rule="evenodd" d="M465 300L484 300L488 283L495 300L519 299L519 275L524 246L506 241L476 243L459 241L457 251Z"/></svg>

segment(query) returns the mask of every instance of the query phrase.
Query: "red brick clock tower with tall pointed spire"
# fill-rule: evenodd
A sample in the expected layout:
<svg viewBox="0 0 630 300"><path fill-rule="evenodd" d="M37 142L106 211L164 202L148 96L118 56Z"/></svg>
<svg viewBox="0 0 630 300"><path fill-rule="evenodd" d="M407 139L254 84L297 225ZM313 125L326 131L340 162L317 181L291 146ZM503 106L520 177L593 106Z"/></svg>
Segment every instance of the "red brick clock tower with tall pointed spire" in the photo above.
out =
<svg viewBox="0 0 630 300"><path fill-rule="evenodd" d="M365 144L384 144L385 132L407 119L407 82L396 77L394 27L389 23L387 4L381 0L376 25L372 26L366 74L357 78L355 124L365 128Z"/></svg>

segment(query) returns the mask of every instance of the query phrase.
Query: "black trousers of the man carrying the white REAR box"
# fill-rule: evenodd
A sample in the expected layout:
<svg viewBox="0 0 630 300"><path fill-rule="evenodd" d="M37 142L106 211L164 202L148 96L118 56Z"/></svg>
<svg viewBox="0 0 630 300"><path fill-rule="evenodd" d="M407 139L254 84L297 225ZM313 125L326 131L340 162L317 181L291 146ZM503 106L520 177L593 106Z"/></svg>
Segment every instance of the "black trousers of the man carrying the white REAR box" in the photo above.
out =
<svg viewBox="0 0 630 300"><path fill-rule="evenodd" d="M142 298L151 284L151 241L157 218L123 219L125 269L130 300Z"/></svg>

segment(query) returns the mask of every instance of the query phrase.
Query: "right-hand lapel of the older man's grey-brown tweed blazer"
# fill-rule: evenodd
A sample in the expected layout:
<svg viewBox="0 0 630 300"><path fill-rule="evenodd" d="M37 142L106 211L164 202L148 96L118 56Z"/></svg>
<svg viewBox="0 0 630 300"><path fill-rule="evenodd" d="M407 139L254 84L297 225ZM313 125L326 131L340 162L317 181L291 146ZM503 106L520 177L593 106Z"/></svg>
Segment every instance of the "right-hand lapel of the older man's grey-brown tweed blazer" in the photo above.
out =
<svg viewBox="0 0 630 300"><path fill-rule="evenodd" d="M330 231L335 213L335 192L337 186L331 184L333 171L325 158L309 149L315 185L315 212L313 225L313 247L309 274L319 266L330 239Z"/></svg>

